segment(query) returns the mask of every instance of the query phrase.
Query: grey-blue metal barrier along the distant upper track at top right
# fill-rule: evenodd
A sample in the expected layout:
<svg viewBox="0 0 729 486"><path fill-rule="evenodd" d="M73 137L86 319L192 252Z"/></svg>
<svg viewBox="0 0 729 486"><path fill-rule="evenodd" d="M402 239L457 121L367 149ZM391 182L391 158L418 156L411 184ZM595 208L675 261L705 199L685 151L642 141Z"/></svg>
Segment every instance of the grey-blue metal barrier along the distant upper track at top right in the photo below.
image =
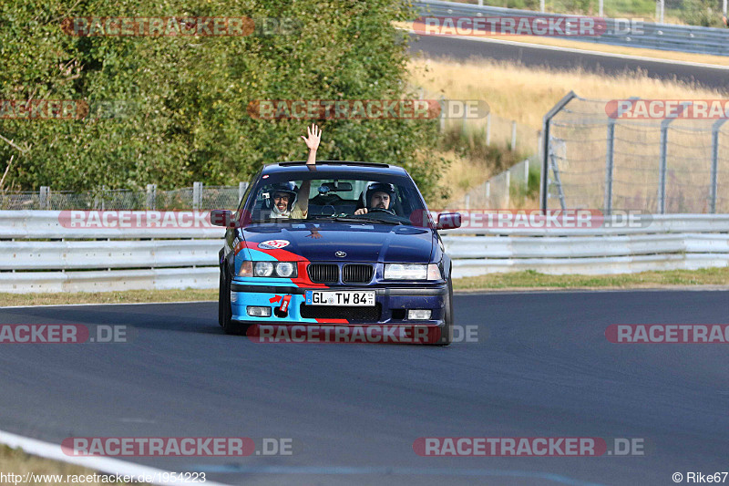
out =
<svg viewBox="0 0 729 486"><path fill-rule="evenodd" d="M519 17L564 17L560 14L548 14L531 10L517 10L496 6L478 6L426 0L414 2L417 14L421 16L519 16ZM570 36L575 40L609 44L612 46L643 47L678 52L714 54L729 56L729 29L674 26L668 24L644 23L635 32L624 22L605 18L607 31L601 36ZM640 30L639 30L640 29ZM500 36L508 40L508 36Z"/></svg>

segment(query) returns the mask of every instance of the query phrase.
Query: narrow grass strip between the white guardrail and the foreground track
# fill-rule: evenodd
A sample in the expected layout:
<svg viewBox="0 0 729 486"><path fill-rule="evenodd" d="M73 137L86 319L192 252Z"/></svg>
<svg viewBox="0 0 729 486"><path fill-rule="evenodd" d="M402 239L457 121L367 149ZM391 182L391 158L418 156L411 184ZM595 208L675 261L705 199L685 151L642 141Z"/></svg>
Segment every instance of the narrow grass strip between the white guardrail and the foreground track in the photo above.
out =
<svg viewBox="0 0 729 486"><path fill-rule="evenodd" d="M630 289L670 288L672 286L712 285L729 289L729 267L700 270L668 270L641 274L548 275L532 270L510 274L488 274L457 278L457 291L531 289ZM127 304L143 302L210 301L218 299L218 289L210 290L128 290L76 294L0 294L3 305Z"/></svg>

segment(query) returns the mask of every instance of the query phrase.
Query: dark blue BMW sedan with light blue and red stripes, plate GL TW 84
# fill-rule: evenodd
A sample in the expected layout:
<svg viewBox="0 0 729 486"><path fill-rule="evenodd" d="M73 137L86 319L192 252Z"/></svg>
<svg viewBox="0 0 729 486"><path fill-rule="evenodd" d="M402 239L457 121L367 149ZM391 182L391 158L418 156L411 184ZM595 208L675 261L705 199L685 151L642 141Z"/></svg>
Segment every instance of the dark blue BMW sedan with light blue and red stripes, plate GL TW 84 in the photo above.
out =
<svg viewBox="0 0 729 486"><path fill-rule="evenodd" d="M319 161L266 165L225 226L219 323L426 329L448 345L451 261L437 230L460 215L427 211L416 183L387 164ZM249 331L250 332L250 331Z"/></svg>

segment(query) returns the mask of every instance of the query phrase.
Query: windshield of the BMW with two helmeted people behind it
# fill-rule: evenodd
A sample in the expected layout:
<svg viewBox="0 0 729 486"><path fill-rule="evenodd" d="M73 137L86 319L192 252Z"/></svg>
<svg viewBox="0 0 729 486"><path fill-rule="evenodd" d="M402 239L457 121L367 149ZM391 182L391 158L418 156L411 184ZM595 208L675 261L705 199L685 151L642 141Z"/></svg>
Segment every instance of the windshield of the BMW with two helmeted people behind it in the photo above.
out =
<svg viewBox="0 0 729 486"><path fill-rule="evenodd" d="M264 175L252 188L244 212L251 215L250 220L245 219L252 223L428 224L426 206L413 181L402 176L380 177L372 173Z"/></svg>

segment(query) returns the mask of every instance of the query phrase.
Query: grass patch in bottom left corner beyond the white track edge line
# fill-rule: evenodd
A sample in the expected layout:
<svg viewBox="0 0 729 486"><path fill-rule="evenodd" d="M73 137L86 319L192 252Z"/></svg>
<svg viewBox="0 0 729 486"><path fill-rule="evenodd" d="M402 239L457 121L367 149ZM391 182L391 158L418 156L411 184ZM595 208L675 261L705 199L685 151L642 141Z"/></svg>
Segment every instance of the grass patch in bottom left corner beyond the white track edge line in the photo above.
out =
<svg viewBox="0 0 729 486"><path fill-rule="evenodd" d="M7 446L0 446L0 471L5 475L12 473L23 477L22 482L18 484L35 484L38 486L58 486L59 484L81 484L80 481L73 481L73 476L84 476L84 480L92 479L93 474L99 474L95 470L82 468L74 464L67 464L66 462L60 462L57 460L48 460L39 458L37 456L31 456L26 454L23 450L11 449ZM36 474L36 481L25 482L25 475L28 472ZM37 475L61 475L63 481L54 481L52 478L38 478ZM91 475L91 478L87 476ZM71 476L71 478L68 478ZM110 477L108 477L110 478ZM57 478L56 478L57 479ZM71 481L67 481L67 480ZM47 480L47 481L44 481ZM103 481L103 480L102 480ZM4 482L3 484L13 484L13 482ZM109 486L113 484L148 484L146 482L98 482L98 481L83 481L83 484L88 486Z"/></svg>

